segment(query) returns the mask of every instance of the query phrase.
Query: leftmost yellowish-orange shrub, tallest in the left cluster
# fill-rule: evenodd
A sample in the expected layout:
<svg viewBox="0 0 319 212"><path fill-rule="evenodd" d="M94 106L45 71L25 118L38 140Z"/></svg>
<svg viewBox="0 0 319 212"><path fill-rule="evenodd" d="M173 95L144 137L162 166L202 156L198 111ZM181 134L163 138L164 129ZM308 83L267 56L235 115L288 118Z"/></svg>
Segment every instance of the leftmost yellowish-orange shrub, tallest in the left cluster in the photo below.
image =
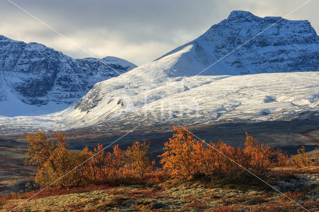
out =
<svg viewBox="0 0 319 212"><path fill-rule="evenodd" d="M26 141L29 142L26 153L26 164L37 166L35 185L72 187L79 186L84 181L83 170L71 171L78 164L85 161L89 155L81 151L68 151L65 136L55 133L55 140L48 139L44 132L29 133ZM64 176L65 175L65 176ZM56 181L57 179L59 179Z"/></svg>

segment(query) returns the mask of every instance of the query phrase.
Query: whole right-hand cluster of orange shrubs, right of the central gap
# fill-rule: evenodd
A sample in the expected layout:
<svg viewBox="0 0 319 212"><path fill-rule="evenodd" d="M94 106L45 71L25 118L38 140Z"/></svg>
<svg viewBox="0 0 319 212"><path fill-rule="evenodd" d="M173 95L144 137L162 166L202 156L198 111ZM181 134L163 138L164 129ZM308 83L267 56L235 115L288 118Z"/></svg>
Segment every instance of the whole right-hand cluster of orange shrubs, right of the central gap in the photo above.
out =
<svg viewBox="0 0 319 212"><path fill-rule="evenodd" d="M234 148L222 141L208 144L196 140L186 127L174 126L173 130L176 133L164 144L165 152L159 157L163 169L174 178L247 174L239 165L255 174L263 174L287 161L280 149L259 144L248 133L245 147Z"/></svg>

